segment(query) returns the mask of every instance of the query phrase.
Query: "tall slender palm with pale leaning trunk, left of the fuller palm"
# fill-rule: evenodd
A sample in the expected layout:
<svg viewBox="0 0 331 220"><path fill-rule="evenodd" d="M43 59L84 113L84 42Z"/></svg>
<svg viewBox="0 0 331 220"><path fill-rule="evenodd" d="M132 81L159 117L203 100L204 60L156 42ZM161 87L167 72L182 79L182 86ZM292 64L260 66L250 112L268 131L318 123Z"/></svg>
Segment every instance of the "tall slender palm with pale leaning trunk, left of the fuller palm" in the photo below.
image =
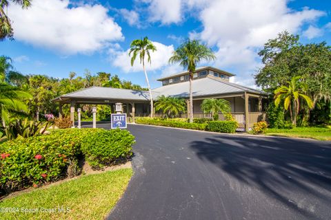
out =
<svg viewBox="0 0 331 220"><path fill-rule="evenodd" d="M131 66L133 66L134 61L136 60L138 54L140 58L140 63L143 64L143 72L145 73L146 82L148 86L148 91L150 91L150 117L153 118L153 98L152 98L152 90L150 89L150 81L148 80L148 76L146 73L146 67L145 67L145 56L147 55L147 62L151 63L150 61L150 52L154 52L157 50L157 47L155 47L152 44L152 41L148 40L148 37L145 36L143 39L137 39L131 42L130 45L130 52L129 56L132 54L131 58Z"/></svg>

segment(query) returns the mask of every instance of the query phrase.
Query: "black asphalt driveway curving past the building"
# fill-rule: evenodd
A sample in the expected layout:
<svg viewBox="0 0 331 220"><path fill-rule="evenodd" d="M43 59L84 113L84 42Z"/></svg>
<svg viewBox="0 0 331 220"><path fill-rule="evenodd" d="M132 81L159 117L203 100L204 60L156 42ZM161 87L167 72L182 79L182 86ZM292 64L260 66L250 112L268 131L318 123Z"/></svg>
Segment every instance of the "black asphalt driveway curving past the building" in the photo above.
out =
<svg viewBox="0 0 331 220"><path fill-rule="evenodd" d="M134 176L108 219L331 219L331 142L128 129Z"/></svg>

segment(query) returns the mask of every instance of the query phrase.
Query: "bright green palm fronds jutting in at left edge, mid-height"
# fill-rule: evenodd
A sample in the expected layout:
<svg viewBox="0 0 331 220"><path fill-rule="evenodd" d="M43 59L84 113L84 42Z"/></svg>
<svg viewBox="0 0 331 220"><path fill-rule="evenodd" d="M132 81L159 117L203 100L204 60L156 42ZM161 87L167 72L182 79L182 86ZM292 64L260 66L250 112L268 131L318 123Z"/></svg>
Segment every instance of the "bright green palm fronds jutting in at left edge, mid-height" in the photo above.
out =
<svg viewBox="0 0 331 220"><path fill-rule="evenodd" d="M10 113L28 113L24 98L32 98L30 94L21 91L7 83L0 83L0 119L3 126L9 121Z"/></svg>

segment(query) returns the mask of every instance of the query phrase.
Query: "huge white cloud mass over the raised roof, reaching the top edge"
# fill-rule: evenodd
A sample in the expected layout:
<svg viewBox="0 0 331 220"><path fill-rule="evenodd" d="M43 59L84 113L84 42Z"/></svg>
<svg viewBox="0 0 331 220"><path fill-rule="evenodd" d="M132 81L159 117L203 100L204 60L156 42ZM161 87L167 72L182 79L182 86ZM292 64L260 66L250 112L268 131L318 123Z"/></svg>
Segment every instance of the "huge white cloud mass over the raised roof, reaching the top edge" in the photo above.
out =
<svg viewBox="0 0 331 220"><path fill-rule="evenodd" d="M190 39L201 39L216 49L217 61L210 63L221 69L232 69L237 82L251 85L252 74L261 65L257 52L279 32L302 32L303 25L310 23L305 34L319 36L314 22L325 12L303 8L288 8L287 0L181 0L179 2L145 0L150 4L150 20L162 24L179 23L183 14L197 18L202 30L188 33ZM167 5L169 5L169 7ZM170 16L174 13L176 16ZM250 82L246 80L250 78Z"/></svg>

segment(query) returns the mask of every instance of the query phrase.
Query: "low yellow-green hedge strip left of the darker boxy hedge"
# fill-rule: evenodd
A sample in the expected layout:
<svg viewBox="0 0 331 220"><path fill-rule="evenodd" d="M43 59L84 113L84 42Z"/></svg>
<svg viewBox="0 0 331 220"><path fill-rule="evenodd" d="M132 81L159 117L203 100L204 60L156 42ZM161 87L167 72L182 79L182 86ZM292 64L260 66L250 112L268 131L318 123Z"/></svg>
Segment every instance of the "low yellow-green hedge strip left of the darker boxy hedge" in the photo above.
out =
<svg viewBox="0 0 331 220"><path fill-rule="evenodd" d="M157 118L136 118L137 124L151 124L159 126L171 126L174 128L181 129L194 129L194 130L205 130L207 124L197 124L188 122L177 122L172 120L160 120Z"/></svg>

